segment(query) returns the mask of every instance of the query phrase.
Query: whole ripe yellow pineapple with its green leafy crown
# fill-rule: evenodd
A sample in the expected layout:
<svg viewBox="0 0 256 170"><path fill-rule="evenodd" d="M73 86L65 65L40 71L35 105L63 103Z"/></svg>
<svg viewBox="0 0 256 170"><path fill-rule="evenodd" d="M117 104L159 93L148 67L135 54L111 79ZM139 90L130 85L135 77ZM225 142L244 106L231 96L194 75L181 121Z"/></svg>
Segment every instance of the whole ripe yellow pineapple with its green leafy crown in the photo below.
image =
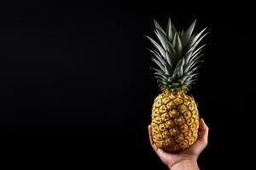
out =
<svg viewBox="0 0 256 170"><path fill-rule="evenodd" d="M158 42L148 37L154 49L154 76L161 94L154 99L152 108L152 138L154 144L166 151L185 150L198 137L199 112L195 99L187 94L195 83L207 35L206 28L194 34L196 20L185 31L176 31L171 19L166 31L154 20Z"/></svg>

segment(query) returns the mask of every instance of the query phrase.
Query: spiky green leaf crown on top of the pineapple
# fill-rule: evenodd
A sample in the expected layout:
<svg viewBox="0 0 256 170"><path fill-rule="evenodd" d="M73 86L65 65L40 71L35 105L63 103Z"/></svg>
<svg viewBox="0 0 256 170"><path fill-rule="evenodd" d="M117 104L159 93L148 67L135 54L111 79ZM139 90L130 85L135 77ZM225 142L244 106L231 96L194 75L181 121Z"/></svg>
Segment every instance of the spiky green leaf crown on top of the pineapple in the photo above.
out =
<svg viewBox="0 0 256 170"><path fill-rule="evenodd" d="M207 35L206 29L193 34L196 20L186 31L176 31L169 18L166 31L154 20L155 35L159 42L148 37L155 49L149 49L158 68L154 70L154 77L162 90L188 91L197 78L197 69L202 62L201 51L205 44L201 40Z"/></svg>

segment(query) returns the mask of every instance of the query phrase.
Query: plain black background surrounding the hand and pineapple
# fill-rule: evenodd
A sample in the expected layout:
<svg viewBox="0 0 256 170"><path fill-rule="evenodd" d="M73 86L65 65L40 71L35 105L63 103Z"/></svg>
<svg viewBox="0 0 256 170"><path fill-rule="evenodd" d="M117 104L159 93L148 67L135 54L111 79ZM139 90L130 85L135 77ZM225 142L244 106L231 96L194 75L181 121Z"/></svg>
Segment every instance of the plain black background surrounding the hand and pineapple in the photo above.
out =
<svg viewBox="0 0 256 170"><path fill-rule="evenodd" d="M210 127L202 169L248 166L253 149L253 10L244 3L1 4L0 134L9 165L165 169L148 142L160 92L144 37L153 19L210 31L190 94ZM253 103L253 102L252 102ZM50 137L49 136L59 136ZM64 137L65 136L65 137Z"/></svg>

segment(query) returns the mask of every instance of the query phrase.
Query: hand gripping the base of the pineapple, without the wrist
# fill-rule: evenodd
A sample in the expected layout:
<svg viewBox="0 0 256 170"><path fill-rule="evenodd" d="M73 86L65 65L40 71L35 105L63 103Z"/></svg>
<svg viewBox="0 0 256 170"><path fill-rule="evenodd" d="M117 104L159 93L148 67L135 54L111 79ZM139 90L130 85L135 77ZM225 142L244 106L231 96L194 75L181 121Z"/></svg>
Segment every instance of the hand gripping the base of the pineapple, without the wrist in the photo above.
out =
<svg viewBox="0 0 256 170"><path fill-rule="evenodd" d="M199 127L199 137L195 144L191 145L186 150L181 150L179 152L166 152L164 150L158 149L152 140L151 125L148 126L149 140L155 153L160 157L160 160L166 164L167 167L180 167L180 164L186 162L189 164L194 164L197 167L197 157L200 155L201 151L207 146L208 131L206 123L203 119L200 119ZM198 168L198 167L197 167Z"/></svg>

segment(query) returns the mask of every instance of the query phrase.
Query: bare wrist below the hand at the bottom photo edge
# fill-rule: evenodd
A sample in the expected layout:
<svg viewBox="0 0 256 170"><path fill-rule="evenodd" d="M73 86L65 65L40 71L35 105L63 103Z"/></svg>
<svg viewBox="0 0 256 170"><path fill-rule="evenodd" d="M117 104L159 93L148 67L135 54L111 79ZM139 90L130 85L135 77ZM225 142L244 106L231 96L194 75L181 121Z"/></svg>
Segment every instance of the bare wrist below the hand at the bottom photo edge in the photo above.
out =
<svg viewBox="0 0 256 170"><path fill-rule="evenodd" d="M172 165L172 167L168 167L170 170L199 170L196 158L187 158L182 161L178 161L176 164Z"/></svg>

